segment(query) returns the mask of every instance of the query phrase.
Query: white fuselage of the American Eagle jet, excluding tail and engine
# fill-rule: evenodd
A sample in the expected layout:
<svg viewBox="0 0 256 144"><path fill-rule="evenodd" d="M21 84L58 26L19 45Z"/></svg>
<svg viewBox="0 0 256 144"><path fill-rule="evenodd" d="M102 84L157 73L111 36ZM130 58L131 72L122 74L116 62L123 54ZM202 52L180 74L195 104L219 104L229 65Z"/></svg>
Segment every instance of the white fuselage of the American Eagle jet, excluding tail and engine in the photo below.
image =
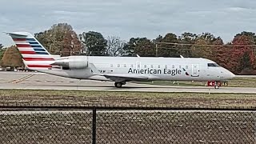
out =
<svg viewBox="0 0 256 144"><path fill-rule="evenodd" d="M37 70L67 78L101 81L226 81L234 78L229 70L206 58L78 57L86 57L87 62L98 70L98 74L90 66L74 70ZM106 77L105 74L113 74L114 78ZM138 76L147 79L140 79Z"/></svg>

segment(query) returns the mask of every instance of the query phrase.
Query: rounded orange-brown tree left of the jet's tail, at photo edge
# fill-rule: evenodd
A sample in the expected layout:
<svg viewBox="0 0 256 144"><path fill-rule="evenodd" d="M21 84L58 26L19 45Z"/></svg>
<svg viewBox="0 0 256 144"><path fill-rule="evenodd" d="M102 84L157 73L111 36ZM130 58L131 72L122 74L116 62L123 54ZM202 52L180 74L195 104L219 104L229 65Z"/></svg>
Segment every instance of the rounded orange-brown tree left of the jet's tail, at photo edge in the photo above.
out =
<svg viewBox="0 0 256 144"><path fill-rule="evenodd" d="M22 55L19 53L16 46L10 46L6 48L5 54L3 54L1 66L10 67L14 70L14 67L22 67Z"/></svg>

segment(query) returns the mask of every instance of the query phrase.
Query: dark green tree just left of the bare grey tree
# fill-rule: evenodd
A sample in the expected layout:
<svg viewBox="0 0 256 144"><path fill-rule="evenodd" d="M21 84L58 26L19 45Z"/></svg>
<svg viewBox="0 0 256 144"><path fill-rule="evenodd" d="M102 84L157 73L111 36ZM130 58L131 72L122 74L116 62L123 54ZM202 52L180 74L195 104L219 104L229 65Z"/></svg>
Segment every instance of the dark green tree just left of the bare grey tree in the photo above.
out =
<svg viewBox="0 0 256 144"><path fill-rule="evenodd" d="M106 55L107 40L101 33L95 31L83 32L79 34L79 38L84 45L83 51L87 55Z"/></svg>

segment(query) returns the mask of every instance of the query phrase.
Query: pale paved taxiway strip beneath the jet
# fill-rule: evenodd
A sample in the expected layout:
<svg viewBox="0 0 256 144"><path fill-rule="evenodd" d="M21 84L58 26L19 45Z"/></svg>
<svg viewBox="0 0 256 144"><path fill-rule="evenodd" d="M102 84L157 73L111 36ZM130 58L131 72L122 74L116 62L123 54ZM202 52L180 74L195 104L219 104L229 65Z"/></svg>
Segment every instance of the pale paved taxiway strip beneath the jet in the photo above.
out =
<svg viewBox="0 0 256 144"><path fill-rule="evenodd" d="M256 94L253 87L214 87L207 86L156 86L128 82L122 88L114 87L114 82L98 82L62 78L34 72L0 72L0 89L23 90L107 90L107 91L146 91L146 92L195 92L195 93L246 93Z"/></svg>

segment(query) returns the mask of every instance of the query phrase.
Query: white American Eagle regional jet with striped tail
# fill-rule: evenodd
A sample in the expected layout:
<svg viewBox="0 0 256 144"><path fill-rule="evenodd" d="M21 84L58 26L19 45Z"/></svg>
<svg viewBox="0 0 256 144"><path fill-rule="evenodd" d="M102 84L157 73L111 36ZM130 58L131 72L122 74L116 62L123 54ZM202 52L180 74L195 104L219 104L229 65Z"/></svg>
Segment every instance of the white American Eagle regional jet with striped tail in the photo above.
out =
<svg viewBox="0 0 256 144"><path fill-rule="evenodd" d="M229 70L206 58L101 57L50 54L27 32L7 33L14 40L29 70L66 78L112 81L214 81L234 78ZM218 85L215 85L218 88Z"/></svg>

